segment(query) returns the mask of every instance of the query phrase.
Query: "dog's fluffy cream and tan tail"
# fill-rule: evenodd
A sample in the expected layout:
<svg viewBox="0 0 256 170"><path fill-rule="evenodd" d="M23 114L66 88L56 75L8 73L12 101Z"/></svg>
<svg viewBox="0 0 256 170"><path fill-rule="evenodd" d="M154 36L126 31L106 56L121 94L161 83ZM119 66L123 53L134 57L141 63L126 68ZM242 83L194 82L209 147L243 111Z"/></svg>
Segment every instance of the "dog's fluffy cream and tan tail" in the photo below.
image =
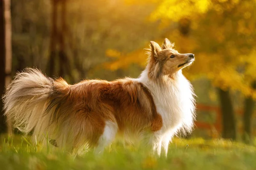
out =
<svg viewBox="0 0 256 170"><path fill-rule="evenodd" d="M12 119L14 127L26 134L33 130L38 137L43 136L51 125L53 115L47 114L47 105L56 83L38 69L26 68L16 74L3 96L5 115ZM61 84L68 86L66 82Z"/></svg>

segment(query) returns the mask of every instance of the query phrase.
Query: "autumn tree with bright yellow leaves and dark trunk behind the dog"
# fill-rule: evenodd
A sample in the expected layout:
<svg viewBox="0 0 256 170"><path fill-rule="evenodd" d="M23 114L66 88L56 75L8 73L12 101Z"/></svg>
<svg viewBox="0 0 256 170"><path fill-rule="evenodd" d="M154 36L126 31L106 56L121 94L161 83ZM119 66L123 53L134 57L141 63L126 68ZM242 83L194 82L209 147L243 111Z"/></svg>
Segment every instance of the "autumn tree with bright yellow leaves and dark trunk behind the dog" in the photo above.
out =
<svg viewBox="0 0 256 170"><path fill-rule="evenodd" d="M155 3L149 21L161 21L156 41L169 37L183 53L196 54L196 61L186 74L189 79L205 77L218 87L224 138L236 139L236 117L230 92L240 91L256 99L251 86L256 79L256 2L252 0L144 0ZM134 1L133 3L137 3ZM184 10L186 9L186 10ZM186 19L186 20L184 20ZM186 33L189 24L190 30ZM145 45L146 47L147 45ZM115 51L115 50L112 50ZM117 53L117 52L116 52ZM119 55L107 68L125 68L132 63L145 65L145 51ZM110 54L116 56L115 53ZM250 105L253 102L247 102ZM248 107L247 105L245 105ZM245 109L246 110L246 109Z"/></svg>

